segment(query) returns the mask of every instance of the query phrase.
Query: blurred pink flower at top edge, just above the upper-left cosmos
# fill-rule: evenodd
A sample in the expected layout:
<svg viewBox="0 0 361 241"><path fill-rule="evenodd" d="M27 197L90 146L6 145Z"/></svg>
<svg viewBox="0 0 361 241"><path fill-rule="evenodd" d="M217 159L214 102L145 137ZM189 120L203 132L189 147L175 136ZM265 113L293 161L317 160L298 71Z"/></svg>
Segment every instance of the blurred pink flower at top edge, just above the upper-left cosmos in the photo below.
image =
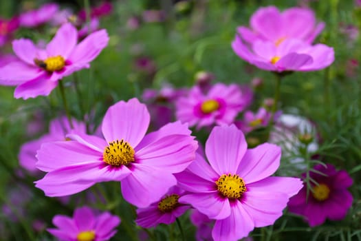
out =
<svg viewBox="0 0 361 241"><path fill-rule="evenodd" d="M47 21L50 21L56 12L58 12L59 6L56 3L46 3L39 9L30 10L20 14L20 25L23 27L34 28Z"/></svg>

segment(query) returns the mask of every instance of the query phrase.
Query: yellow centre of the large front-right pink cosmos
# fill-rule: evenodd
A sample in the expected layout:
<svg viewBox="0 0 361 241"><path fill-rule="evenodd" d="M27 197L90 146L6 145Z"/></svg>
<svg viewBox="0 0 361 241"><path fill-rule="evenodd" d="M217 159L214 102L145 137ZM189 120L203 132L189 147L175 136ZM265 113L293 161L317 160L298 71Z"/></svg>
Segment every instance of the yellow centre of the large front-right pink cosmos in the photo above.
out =
<svg viewBox="0 0 361 241"><path fill-rule="evenodd" d="M234 174L223 174L216 181L218 191L227 198L241 198L242 194L247 190L242 178Z"/></svg>

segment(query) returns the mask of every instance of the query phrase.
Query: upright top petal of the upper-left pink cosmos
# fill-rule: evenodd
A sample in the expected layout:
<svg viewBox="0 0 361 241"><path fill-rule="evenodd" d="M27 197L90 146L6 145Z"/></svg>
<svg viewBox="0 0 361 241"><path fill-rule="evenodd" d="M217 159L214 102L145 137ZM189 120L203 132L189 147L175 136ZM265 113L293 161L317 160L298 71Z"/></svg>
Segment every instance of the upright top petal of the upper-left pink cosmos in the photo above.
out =
<svg viewBox="0 0 361 241"><path fill-rule="evenodd" d="M72 23L64 23L46 46L48 56L63 56L68 59L78 41L78 31Z"/></svg>

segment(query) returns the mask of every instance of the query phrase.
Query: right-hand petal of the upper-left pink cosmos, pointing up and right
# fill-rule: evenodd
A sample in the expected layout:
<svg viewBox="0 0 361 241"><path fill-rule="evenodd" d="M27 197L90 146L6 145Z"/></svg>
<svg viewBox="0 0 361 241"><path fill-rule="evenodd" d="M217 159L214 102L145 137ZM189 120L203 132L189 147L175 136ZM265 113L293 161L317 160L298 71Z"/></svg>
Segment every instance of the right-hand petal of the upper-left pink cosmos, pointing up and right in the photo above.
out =
<svg viewBox="0 0 361 241"><path fill-rule="evenodd" d="M93 61L108 44L107 30L93 32L81 41L69 56L69 61L78 65Z"/></svg>

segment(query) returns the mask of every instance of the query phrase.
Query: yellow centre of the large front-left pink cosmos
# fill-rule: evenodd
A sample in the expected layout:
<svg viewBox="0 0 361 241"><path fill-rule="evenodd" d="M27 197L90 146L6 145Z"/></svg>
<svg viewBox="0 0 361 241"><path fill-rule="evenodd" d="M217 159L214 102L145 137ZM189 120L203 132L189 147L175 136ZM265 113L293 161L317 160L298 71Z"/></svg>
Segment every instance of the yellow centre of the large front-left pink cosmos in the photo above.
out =
<svg viewBox="0 0 361 241"><path fill-rule="evenodd" d="M122 140L114 140L105 147L102 158L105 163L112 166L128 165L134 161L134 149Z"/></svg>

